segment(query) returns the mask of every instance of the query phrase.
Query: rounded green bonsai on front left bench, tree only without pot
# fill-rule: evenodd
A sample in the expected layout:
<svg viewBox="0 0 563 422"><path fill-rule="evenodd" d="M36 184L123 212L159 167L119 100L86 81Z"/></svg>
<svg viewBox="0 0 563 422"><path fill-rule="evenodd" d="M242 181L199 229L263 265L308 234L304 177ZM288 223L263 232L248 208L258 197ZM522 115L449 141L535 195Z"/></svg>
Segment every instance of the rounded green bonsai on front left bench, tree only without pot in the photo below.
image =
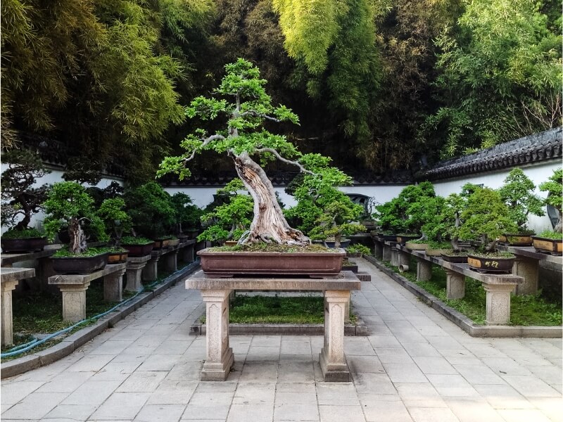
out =
<svg viewBox="0 0 563 422"><path fill-rule="evenodd" d="M72 181L53 184L44 203L44 226L49 241L53 241L57 232L64 226L68 226L68 250L72 254L80 254L87 249L84 224L88 224L90 233L99 241L107 241L103 221L96 215L93 203L94 200L88 195L86 188L80 184Z"/></svg>

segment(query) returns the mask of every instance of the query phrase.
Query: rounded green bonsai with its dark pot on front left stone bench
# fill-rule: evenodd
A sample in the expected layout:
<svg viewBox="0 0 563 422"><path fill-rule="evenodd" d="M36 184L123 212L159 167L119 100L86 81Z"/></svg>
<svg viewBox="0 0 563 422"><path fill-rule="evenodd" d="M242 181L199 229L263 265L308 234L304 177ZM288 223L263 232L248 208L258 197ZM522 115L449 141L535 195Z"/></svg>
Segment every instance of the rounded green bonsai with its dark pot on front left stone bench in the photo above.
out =
<svg viewBox="0 0 563 422"><path fill-rule="evenodd" d="M86 188L80 184L72 181L53 184L44 203L45 231L49 240L53 241L61 227L67 226L70 236L70 243L52 257L54 271L60 274L89 274L108 263L107 250L88 248L86 243L83 228L86 222L99 241L108 240L103 221L94 212L93 203Z"/></svg>

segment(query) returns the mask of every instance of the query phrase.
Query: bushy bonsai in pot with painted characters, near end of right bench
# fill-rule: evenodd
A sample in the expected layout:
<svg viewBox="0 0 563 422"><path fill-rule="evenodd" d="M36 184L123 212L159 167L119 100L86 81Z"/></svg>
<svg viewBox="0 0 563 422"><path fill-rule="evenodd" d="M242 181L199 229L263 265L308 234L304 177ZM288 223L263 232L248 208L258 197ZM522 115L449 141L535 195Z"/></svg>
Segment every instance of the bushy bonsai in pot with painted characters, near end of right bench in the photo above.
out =
<svg viewBox="0 0 563 422"><path fill-rule="evenodd" d="M516 229L500 194L491 188L476 188L467 198L460 217L463 221L460 236L481 242L467 256L469 267L485 272L510 272L514 255L495 250L499 236Z"/></svg>

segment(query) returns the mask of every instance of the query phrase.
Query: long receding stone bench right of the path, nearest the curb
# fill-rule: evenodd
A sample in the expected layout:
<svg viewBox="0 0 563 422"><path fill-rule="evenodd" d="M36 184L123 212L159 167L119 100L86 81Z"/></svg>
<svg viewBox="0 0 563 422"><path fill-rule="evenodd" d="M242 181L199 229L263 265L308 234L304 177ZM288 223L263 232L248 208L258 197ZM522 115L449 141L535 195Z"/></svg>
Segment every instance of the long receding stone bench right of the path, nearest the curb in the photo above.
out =
<svg viewBox="0 0 563 422"><path fill-rule="evenodd" d="M469 264L454 264L438 257L429 257L424 251L410 250L396 245L402 254L417 258L417 281L431 279L432 264L440 265L445 271L446 297L460 299L465 295L465 276L481 281L486 291L486 324L505 325L510 322L510 294L523 283L521 276L514 274L486 274L469 269Z"/></svg>

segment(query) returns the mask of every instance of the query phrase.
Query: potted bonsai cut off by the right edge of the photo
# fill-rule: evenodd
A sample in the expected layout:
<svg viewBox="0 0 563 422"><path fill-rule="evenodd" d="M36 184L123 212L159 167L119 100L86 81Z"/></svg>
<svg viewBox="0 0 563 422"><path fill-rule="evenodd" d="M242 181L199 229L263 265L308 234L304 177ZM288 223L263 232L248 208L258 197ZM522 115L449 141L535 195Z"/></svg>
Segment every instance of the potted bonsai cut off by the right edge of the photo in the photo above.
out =
<svg viewBox="0 0 563 422"><path fill-rule="evenodd" d="M553 230L545 230L538 236L532 236L533 247L540 252L561 255L563 252L563 169L555 170L548 181L540 184L540 191L548 192L548 197L545 198L544 203L551 205L557 211L557 222Z"/></svg>

